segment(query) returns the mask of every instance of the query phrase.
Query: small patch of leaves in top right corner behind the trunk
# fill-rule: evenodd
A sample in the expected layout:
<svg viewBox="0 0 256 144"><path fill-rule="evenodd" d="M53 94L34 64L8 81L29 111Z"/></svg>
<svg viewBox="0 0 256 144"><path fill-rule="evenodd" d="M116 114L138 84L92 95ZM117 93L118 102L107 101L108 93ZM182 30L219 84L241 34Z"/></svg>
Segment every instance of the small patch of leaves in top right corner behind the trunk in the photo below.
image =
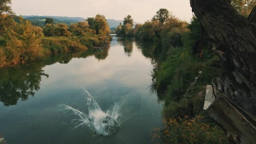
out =
<svg viewBox="0 0 256 144"><path fill-rule="evenodd" d="M256 0L231 0L231 5L243 16L248 17Z"/></svg>

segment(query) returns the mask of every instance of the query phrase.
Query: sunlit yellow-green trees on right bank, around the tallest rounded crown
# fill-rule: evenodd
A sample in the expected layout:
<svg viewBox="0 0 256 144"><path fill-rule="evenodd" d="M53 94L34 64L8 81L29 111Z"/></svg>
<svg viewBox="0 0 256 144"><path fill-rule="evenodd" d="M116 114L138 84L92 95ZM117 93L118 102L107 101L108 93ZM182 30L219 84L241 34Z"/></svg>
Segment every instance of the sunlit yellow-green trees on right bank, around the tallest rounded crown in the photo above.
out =
<svg viewBox="0 0 256 144"><path fill-rule="evenodd" d="M139 40L162 42L163 47L183 46L182 37L188 32L187 23L160 9L151 21L135 25L134 37Z"/></svg>

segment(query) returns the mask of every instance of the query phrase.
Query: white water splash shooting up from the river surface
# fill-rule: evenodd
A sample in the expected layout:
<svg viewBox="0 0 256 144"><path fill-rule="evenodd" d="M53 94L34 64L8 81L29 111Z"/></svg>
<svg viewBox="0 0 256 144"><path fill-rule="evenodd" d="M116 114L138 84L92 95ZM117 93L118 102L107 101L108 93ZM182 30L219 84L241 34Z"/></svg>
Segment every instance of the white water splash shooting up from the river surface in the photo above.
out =
<svg viewBox="0 0 256 144"><path fill-rule="evenodd" d="M84 89L84 88L83 88ZM92 132L98 135L113 135L118 131L119 126L122 123L120 109L121 106L115 104L111 110L104 112L101 110L100 105L96 100L84 89L87 96L88 114L85 114L75 108L68 105L65 106L65 110L71 110L74 115L79 119L74 119L76 123L75 128L79 126L87 126Z"/></svg>

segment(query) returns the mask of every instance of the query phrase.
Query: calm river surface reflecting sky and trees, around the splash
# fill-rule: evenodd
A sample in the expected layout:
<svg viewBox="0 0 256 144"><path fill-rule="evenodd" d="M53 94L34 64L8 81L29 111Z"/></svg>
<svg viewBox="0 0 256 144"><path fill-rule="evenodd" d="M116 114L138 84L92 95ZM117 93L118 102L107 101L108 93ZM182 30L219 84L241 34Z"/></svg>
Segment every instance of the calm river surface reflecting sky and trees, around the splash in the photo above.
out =
<svg viewBox="0 0 256 144"><path fill-rule="evenodd" d="M162 126L162 104L152 82L150 44L114 36L109 48L60 53L0 69L0 134L8 144L147 144ZM85 88L103 111L121 105L122 124L111 136L96 135L63 104L88 113Z"/></svg>

